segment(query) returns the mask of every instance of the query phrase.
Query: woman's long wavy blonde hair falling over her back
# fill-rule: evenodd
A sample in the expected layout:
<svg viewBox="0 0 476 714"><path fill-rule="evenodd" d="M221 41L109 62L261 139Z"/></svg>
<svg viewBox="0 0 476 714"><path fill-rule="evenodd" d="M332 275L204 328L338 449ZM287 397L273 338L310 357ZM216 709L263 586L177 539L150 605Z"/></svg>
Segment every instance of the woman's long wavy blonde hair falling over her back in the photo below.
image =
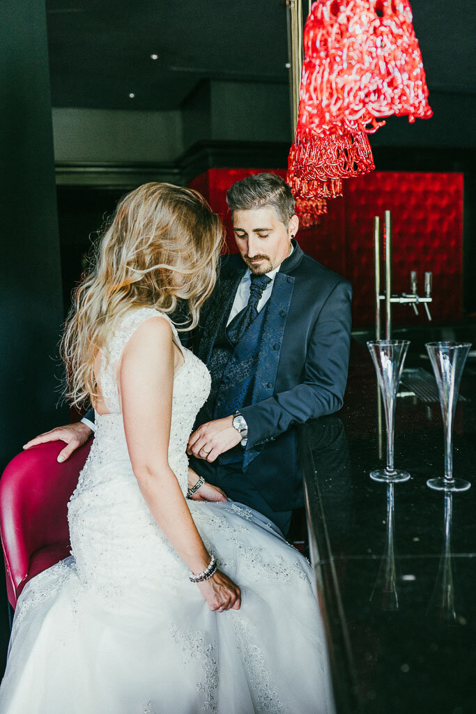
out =
<svg viewBox="0 0 476 714"><path fill-rule="evenodd" d="M138 307L188 316L191 330L216 283L224 241L220 218L203 196L171 183L145 183L118 203L96 249L93 268L74 291L61 339L65 396L74 406L98 398L94 363L118 321ZM183 301L183 302L182 302Z"/></svg>

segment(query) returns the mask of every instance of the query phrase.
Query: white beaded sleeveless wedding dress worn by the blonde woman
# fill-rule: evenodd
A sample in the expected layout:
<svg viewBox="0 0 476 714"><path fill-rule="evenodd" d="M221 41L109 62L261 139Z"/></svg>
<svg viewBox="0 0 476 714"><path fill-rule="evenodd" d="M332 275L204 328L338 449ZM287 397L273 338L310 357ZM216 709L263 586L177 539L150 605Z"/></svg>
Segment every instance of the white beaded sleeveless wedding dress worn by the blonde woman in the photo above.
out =
<svg viewBox="0 0 476 714"><path fill-rule="evenodd" d="M187 501L206 547L243 595L240 610L212 613L139 491L115 373L133 331L154 315L131 311L113 337L101 371L111 414L96 415L69 503L71 556L19 597L0 713L328 714L328 660L308 561L248 507ZM186 493L186 444L211 379L181 350L168 459Z"/></svg>

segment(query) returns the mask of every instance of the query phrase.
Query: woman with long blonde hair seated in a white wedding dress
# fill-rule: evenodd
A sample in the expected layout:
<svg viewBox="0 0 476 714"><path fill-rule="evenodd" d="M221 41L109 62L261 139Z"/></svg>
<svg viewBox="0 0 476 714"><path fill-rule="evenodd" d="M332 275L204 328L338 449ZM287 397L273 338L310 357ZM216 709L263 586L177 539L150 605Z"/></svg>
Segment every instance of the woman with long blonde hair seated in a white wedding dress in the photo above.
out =
<svg viewBox="0 0 476 714"><path fill-rule="evenodd" d="M191 326L221 222L195 191L118 204L63 338L69 396L96 436L69 502L71 556L26 585L1 714L324 714L323 625L307 560L259 513L187 499L186 446L210 388Z"/></svg>

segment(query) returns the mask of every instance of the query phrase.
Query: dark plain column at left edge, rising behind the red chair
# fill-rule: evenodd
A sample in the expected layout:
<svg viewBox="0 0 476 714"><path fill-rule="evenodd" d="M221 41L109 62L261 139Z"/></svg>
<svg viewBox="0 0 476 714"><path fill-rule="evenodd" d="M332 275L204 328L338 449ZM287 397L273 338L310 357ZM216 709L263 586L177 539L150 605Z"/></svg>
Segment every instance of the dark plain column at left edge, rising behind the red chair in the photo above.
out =
<svg viewBox="0 0 476 714"><path fill-rule="evenodd" d="M56 410L63 319L46 10L2 0L0 21L0 471Z"/></svg>

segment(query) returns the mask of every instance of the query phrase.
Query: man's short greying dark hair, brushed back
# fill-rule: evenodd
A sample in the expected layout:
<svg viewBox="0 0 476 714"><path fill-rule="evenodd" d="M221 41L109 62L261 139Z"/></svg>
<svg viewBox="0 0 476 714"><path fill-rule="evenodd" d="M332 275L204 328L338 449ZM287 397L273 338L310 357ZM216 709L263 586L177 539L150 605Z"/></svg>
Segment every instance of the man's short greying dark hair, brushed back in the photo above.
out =
<svg viewBox="0 0 476 714"><path fill-rule="evenodd" d="M226 202L231 212L250 208L274 208L279 220L288 226L294 216L294 198L288 184L276 174L253 174L236 181L228 189Z"/></svg>

